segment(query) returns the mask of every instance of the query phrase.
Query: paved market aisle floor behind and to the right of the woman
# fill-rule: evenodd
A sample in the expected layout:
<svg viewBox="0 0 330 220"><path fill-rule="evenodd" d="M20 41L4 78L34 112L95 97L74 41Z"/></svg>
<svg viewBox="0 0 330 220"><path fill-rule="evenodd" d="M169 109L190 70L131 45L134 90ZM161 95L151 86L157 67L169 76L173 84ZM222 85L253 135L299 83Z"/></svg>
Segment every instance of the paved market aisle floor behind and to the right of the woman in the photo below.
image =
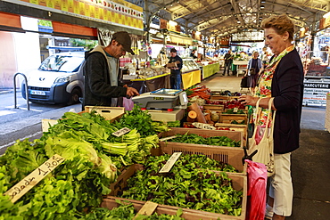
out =
<svg viewBox="0 0 330 220"><path fill-rule="evenodd" d="M240 91L241 77L202 81L211 91ZM242 93L247 93L243 89ZM293 215L288 220L327 220L330 210L330 134L325 131L326 109L302 107L301 147L292 154Z"/></svg>

